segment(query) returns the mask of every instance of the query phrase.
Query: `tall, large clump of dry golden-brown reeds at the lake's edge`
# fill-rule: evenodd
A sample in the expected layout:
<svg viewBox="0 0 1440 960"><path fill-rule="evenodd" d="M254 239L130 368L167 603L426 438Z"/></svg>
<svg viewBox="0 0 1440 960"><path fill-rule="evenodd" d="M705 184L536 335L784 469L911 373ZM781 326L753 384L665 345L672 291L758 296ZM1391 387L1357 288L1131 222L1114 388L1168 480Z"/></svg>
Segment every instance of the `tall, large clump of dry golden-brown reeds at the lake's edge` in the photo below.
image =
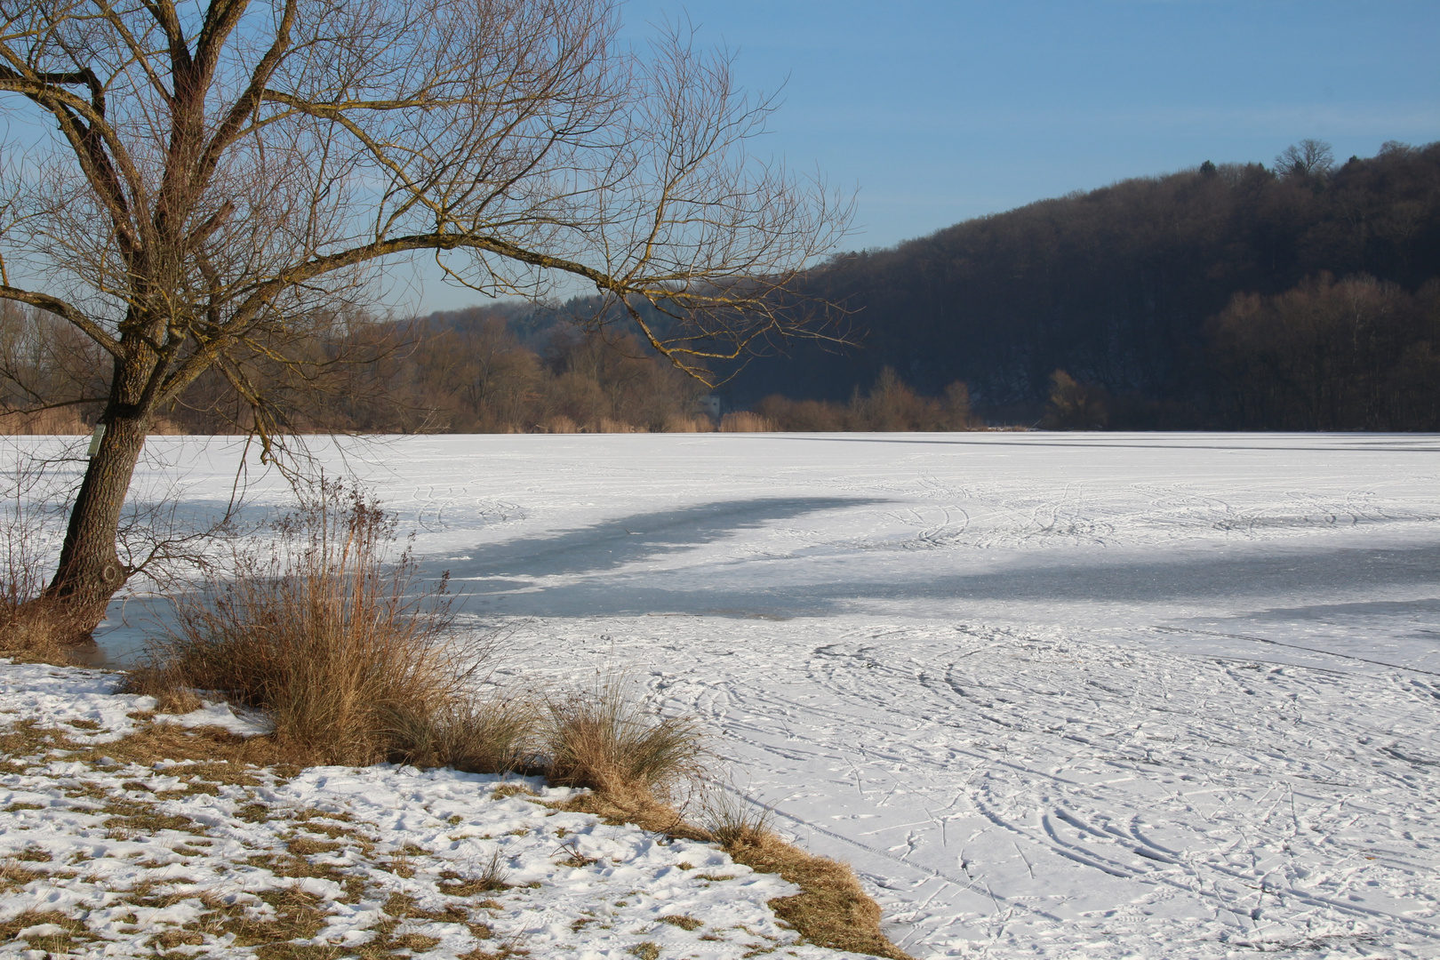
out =
<svg viewBox="0 0 1440 960"><path fill-rule="evenodd" d="M216 691L266 711L274 738L315 763L508 760L514 711L462 707L491 640L454 636L445 580L419 589L412 554L393 556L393 517L323 481L275 530L230 579L176 597L176 628L151 640L131 692Z"/></svg>

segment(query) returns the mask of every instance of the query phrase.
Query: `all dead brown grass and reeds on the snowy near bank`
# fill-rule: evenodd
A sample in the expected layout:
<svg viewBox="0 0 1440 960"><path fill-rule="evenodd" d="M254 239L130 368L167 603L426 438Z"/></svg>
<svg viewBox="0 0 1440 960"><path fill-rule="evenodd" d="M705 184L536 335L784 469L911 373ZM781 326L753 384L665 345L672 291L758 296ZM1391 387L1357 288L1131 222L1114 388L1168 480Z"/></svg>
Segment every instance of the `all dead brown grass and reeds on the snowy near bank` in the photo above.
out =
<svg viewBox="0 0 1440 960"><path fill-rule="evenodd" d="M197 691L262 710L274 721L272 734L239 737L215 728L189 730L157 723L154 714L135 714L141 724L135 733L86 746L75 740L89 731L84 721L72 723L69 733L22 723L0 731L3 763L23 770L29 761L55 751L96 767L189 761L170 771L181 779L181 790L202 793L216 793L223 786L253 787L276 776L295 776L314 763L366 764L386 759L475 773L544 773L550 783L589 789L567 809L677 838L711 841L737 862L798 884L801 894L775 900L772 907L805 940L897 960L906 957L880 933L880 908L850 868L785 843L763 810L733 793L711 793L698 803L697 822L687 822L677 803L690 799L690 789L714 757L694 720L657 717L632 695L622 674L603 675L589 689L549 698L475 699L471 682L485 662L487 643L456 643L444 581L419 590L409 553L392 563L395 521L372 499L338 484L324 484L317 499L278 524L276 534L278 550L264 557L242 553L230 579L180 597L179 626L154 640L147 664L127 678L128 692L158 697L164 711L199 707ZM148 792L141 782L130 786L128 797ZM115 836L174 830L184 835L184 843L206 842L200 825L184 816L163 815L147 800L122 800L84 784L68 793L94 802L107 813L104 823ZM533 790L517 780L498 784L492 796L528 793ZM278 812L251 803L242 805L235 816L258 822L275 819ZM363 881L311 858L351 848L370 858L373 841L334 815L288 816L295 829L287 835L285 849L256 852L248 864L278 878L333 881L344 889L343 902L359 902ZM396 877L410 878L416 872L415 859L423 855L418 848L399 849L382 865ZM42 875L22 865L22 859L27 858L0 865L0 889ZM556 849L556 862L580 869L595 861L572 839ZM472 875L442 874L439 891L456 898L504 891L510 888L507 875L497 852ZM148 897L148 891L137 889L127 900L141 902ZM274 910L266 920L233 905L207 904L200 920L157 934L153 946L171 950L199 946L206 934L233 934L236 946L256 947L262 960L356 956L353 950L337 953L333 947L288 943L314 937L324 927L323 904L312 895L288 888L266 892L262 900ZM359 956L428 950L436 941L402 933L400 923L406 918L469 923L461 913L459 907L423 913L413 902L392 898L383 930L377 928L376 940ZM678 914L664 921L685 930L700 924ZM33 920L14 930L45 923L50 921ZM68 950L84 928L76 921L55 923L59 931L46 927L50 933L36 934L32 948ZM481 928L485 937L475 933ZM484 924L471 924L471 930L478 940L488 938ZM632 953L648 956L647 946L654 947L641 944ZM467 956L487 960L523 953L518 941L487 947Z"/></svg>

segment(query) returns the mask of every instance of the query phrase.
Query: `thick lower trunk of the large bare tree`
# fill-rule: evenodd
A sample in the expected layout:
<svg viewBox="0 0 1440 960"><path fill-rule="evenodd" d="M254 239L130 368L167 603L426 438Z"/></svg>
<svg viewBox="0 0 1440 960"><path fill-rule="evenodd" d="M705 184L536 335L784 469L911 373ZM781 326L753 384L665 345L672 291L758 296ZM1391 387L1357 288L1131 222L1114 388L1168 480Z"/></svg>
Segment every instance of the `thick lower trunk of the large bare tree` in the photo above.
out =
<svg viewBox="0 0 1440 960"><path fill-rule="evenodd" d="M40 597L42 604L60 616L71 642L89 639L109 599L131 573L115 553L115 533L150 417L118 406L112 403L105 415L105 436L71 508L60 563Z"/></svg>

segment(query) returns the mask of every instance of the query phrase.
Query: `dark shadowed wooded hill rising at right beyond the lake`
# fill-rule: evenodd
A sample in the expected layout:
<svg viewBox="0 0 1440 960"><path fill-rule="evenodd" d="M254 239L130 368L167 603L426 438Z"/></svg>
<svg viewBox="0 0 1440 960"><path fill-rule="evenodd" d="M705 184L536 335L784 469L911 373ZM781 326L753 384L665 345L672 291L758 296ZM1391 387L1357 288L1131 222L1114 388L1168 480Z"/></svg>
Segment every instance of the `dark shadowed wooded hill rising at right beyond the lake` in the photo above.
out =
<svg viewBox="0 0 1440 960"><path fill-rule="evenodd" d="M1440 144L1305 141L837 258L811 291L863 348L759 360L733 396L840 402L888 366L992 422L1436 430L1437 276Z"/></svg>

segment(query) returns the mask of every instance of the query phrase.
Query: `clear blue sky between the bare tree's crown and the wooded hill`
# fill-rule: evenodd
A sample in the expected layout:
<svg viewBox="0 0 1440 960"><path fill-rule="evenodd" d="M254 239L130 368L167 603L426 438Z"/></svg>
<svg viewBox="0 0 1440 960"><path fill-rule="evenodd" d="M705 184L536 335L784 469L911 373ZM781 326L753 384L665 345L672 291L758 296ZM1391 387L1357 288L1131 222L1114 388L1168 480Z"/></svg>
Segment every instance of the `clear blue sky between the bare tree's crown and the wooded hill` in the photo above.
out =
<svg viewBox="0 0 1440 960"><path fill-rule="evenodd" d="M1204 160L1440 140L1440 1L628 0L782 89L756 148L858 189L847 246ZM426 309L474 294L425 284Z"/></svg>

